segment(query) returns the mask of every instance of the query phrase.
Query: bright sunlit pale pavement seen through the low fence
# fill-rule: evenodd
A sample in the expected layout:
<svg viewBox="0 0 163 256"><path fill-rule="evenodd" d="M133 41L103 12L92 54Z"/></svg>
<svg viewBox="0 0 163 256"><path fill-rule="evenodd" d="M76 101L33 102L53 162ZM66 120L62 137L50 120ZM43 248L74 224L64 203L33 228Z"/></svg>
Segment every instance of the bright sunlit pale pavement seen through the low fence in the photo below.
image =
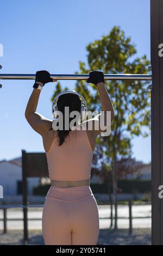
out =
<svg viewBox="0 0 163 256"><path fill-rule="evenodd" d="M99 227L100 229L108 229L110 227L110 207L108 205L98 205L99 210ZM133 228L151 228L151 205L133 205ZM129 228L129 209L128 205L118 205L118 228ZM23 221L16 221L17 218L23 218L21 209L10 209L7 213L8 218L13 221L8 221L8 229L22 230ZM3 218L3 211L0 211L0 218ZM28 218L34 218L34 221L28 221L30 230L41 230L42 208L30 208ZM40 219L40 220L39 220ZM0 221L0 230L3 229L3 222Z"/></svg>

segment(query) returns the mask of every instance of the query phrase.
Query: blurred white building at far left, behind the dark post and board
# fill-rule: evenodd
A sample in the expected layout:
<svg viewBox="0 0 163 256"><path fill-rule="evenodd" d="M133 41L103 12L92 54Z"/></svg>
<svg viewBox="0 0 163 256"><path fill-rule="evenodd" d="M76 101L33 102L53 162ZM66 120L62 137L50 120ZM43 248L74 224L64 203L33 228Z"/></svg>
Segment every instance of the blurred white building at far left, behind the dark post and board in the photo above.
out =
<svg viewBox="0 0 163 256"><path fill-rule="evenodd" d="M22 194L22 158L11 161L0 161L0 185L3 186L3 196ZM40 184L40 178L27 178L28 195L33 194L34 186Z"/></svg>

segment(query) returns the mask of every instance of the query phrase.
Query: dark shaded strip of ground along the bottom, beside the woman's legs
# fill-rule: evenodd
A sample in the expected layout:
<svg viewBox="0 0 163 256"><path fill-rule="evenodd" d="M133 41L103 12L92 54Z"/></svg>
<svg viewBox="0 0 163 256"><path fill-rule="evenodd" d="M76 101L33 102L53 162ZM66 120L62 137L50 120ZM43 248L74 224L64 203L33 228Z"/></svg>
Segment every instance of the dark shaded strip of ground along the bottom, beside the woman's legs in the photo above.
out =
<svg viewBox="0 0 163 256"><path fill-rule="evenodd" d="M8 234L1 234L1 245L22 245L23 231L10 230ZM30 230L30 245L43 245L43 237L40 230ZM133 235L128 234L127 229L100 229L98 245L151 245L151 229L134 229Z"/></svg>

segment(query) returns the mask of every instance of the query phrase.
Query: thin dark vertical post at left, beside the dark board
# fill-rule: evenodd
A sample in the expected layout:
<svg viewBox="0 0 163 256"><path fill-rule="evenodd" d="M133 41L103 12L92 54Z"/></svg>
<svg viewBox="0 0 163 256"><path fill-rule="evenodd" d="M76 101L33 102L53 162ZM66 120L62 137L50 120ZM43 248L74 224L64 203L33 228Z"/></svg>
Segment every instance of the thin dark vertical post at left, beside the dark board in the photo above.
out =
<svg viewBox="0 0 163 256"><path fill-rule="evenodd" d="M23 224L24 244L28 243L28 209L27 209L27 154L22 150L22 180L23 180Z"/></svg>

